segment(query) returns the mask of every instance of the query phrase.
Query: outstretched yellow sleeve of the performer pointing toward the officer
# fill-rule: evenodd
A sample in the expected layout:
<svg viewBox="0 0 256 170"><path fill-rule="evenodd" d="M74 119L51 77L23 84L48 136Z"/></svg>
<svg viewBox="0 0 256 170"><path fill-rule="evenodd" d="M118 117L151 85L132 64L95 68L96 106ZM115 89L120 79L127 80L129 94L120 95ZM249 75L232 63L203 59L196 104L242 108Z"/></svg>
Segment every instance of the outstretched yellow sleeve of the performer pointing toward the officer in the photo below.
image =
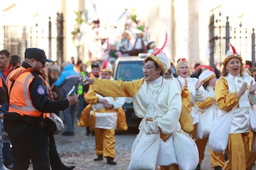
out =
<svg viewBox="0 0 256 170"><path fill-rule="evenodd" d="M134 81L94 78L92 89L102 96L132 97L137 94L143 82L144 78Z"/></svg>

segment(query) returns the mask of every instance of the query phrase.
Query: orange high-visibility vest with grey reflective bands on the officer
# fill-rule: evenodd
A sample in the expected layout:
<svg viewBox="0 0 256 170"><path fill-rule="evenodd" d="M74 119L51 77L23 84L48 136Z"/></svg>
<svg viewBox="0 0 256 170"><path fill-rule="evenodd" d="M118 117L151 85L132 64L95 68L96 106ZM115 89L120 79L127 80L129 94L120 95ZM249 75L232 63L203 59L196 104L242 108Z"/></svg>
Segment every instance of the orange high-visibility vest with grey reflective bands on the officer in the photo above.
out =
<svg viewBox="0 0 256 170"><path fill-rule="evenodd" d="M10 106L9 112L15 112L20 115L30 115L34 117L39 117L41 111L36 110L31 101L31 94L29 91L29 85L33 81L33 74L31 72L23 72L15 80L14 85L11 89L11 84L13 81L10 78L19 70L25 69L19 67L9 74L9 77L6 79L6 86L8 87L8 93L10 96ZM10 94L11 89L11 94ZM47 93L47 91L46 91Z"/></svg>

